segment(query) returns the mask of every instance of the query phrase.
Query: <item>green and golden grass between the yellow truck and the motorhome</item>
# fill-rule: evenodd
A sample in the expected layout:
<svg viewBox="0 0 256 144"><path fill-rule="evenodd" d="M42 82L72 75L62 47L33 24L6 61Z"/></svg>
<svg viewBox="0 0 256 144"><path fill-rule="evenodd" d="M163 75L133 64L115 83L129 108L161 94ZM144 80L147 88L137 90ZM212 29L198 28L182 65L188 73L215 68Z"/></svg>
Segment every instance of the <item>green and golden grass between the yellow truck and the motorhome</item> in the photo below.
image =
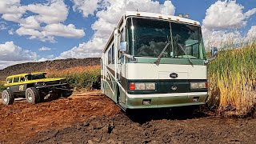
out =
<svg viewBox="0 0 256 144"><path fill-rule="evenodd" d="M89 88L101 74L100 66L78 66L66 70L48 70L48 78L66 78L75 90Z"/></svg>

